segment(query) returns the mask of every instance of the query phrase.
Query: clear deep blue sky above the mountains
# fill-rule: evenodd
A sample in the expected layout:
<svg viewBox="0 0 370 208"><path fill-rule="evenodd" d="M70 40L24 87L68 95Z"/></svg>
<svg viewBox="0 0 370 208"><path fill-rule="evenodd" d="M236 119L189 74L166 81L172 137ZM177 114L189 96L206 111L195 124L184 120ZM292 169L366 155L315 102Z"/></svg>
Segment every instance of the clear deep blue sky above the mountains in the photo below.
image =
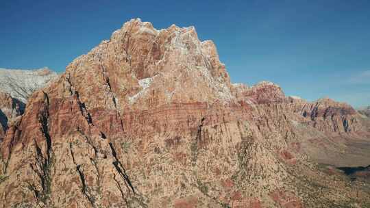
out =
<svg viewBox="0 0 370 208"><path fill-rule="evenodd" d="M194 25L233 82L261 80L310 101L370 105L370 1L17 1L0 3L0 68L58 72L140 17Z"/></svg>

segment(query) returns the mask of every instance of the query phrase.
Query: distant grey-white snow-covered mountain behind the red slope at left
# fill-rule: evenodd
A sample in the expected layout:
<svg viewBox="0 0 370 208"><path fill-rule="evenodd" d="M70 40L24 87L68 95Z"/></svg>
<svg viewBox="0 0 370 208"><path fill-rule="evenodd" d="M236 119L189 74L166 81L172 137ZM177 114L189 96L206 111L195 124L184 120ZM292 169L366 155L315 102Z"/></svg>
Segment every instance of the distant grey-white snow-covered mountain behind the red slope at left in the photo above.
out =
<svg viewBox="0 0 370 208"><path fill-rule="evenodd" d="M0 68L0 91L27 103L29 96L58 75L49 68L18 70Z"/></svg>

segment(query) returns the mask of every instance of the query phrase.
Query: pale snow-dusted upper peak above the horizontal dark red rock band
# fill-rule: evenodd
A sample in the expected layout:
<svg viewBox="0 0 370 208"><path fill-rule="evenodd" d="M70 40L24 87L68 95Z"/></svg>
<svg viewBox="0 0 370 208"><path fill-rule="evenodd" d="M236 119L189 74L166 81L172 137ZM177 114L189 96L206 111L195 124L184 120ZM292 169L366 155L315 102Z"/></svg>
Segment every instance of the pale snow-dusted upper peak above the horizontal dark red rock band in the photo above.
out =
<svg viewBox="0 0 370 208"><path fill-rule="evenodd" d="M101 90L108 85L122 106L149 108L234 98L230 77L212 41L201 42L194 27L171 25L158 30L140 19L125 23L110 40L74 60L66 76L73 77L70 81L79 93L90 97L103 95L86 88L88 83L101 83ZM153 94L158 103L149 103Z"/></svg>

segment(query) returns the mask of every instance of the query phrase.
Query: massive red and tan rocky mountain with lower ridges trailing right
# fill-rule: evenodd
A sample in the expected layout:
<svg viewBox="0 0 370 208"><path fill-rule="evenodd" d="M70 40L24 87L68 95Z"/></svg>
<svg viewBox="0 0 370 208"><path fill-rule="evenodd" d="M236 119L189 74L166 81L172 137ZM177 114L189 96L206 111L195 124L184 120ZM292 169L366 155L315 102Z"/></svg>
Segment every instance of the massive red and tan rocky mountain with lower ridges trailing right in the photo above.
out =
<svg viewBox="0 0 370 208"><path fill-rule="evenodd" d="M231 83L194 27L133 19L32 94L0 205L366 207L369 184L333 166L368 166L369 147L351 106Z"/></svg>

